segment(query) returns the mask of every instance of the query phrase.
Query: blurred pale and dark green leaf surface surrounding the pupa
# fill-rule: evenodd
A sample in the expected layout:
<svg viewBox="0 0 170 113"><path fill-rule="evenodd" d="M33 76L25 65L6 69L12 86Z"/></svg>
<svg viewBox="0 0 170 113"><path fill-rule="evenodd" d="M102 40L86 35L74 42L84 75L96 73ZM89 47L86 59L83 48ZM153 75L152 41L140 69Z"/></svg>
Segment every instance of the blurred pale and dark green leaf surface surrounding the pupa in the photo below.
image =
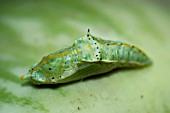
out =
<svg viewBox="0 0 170 113"><path fill-rule="evenodd" d="M0 1L1 113L170 113L170 2ZM21 81L44 55L95 36L140 47L153 60L83 82Z"/></svg>

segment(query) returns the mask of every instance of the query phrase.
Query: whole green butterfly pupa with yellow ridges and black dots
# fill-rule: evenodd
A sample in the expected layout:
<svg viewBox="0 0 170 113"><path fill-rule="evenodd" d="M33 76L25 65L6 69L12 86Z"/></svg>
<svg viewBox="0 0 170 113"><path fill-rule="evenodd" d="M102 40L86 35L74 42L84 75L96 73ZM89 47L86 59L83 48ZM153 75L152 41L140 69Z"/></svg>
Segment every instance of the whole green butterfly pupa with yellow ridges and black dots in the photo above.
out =
<svg viewBox="0 0 170 113"><path fill-rule="evenodd" d="M91 35L88 29L88 33L70 47L43 57L21 79L30 79L35 84L67 83L115 68L142 67L151 63L138 47L103 40Z"/></svg>

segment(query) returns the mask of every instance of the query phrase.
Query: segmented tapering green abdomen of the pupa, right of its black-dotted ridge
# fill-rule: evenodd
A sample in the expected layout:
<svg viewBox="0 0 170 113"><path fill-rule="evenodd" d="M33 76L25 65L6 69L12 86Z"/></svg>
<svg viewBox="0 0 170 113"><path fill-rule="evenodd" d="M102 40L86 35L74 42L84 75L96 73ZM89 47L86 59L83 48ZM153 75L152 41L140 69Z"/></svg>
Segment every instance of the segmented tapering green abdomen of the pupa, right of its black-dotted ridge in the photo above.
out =
<svg viewBox="0 0 170 113"><path fill-rule="evenodd" d="M101 60L115 62L118 66L143 66L151 63L150 59L142 50L120 42L105 44L101 49L100 57Z"/></svg>

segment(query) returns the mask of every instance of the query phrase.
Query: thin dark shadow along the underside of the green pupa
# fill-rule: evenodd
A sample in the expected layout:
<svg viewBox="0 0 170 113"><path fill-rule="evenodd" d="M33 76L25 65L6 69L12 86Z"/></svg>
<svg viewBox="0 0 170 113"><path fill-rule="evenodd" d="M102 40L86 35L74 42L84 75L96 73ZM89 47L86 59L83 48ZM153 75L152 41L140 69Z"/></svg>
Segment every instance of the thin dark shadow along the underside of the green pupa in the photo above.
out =
<svg viewBox="0 0 170 113"><path fill-rule="evenodd" d="M67 85L72 85L72 84L76 84L78 82L86 82L89 80L98 80L101 78L105 78L105 77L109 77L109 76L115 76L116 73L118 72L126 72L126 71L132 71L132 70L141 70L145 67L134 67L134 68L117 68L114 69L110 72L107 73L103 73L103 74L97 74L97 75L92 75L90 77L84 78L83 80L77 80L77 81L72 81L72 82L68 82L68 83L60 83L60 84L33 84L31 81L27 81L26 83L22 84L22 86L32 86L36 89L57 89L57 88L61 88L61 87L65 87Z"/></svg>

